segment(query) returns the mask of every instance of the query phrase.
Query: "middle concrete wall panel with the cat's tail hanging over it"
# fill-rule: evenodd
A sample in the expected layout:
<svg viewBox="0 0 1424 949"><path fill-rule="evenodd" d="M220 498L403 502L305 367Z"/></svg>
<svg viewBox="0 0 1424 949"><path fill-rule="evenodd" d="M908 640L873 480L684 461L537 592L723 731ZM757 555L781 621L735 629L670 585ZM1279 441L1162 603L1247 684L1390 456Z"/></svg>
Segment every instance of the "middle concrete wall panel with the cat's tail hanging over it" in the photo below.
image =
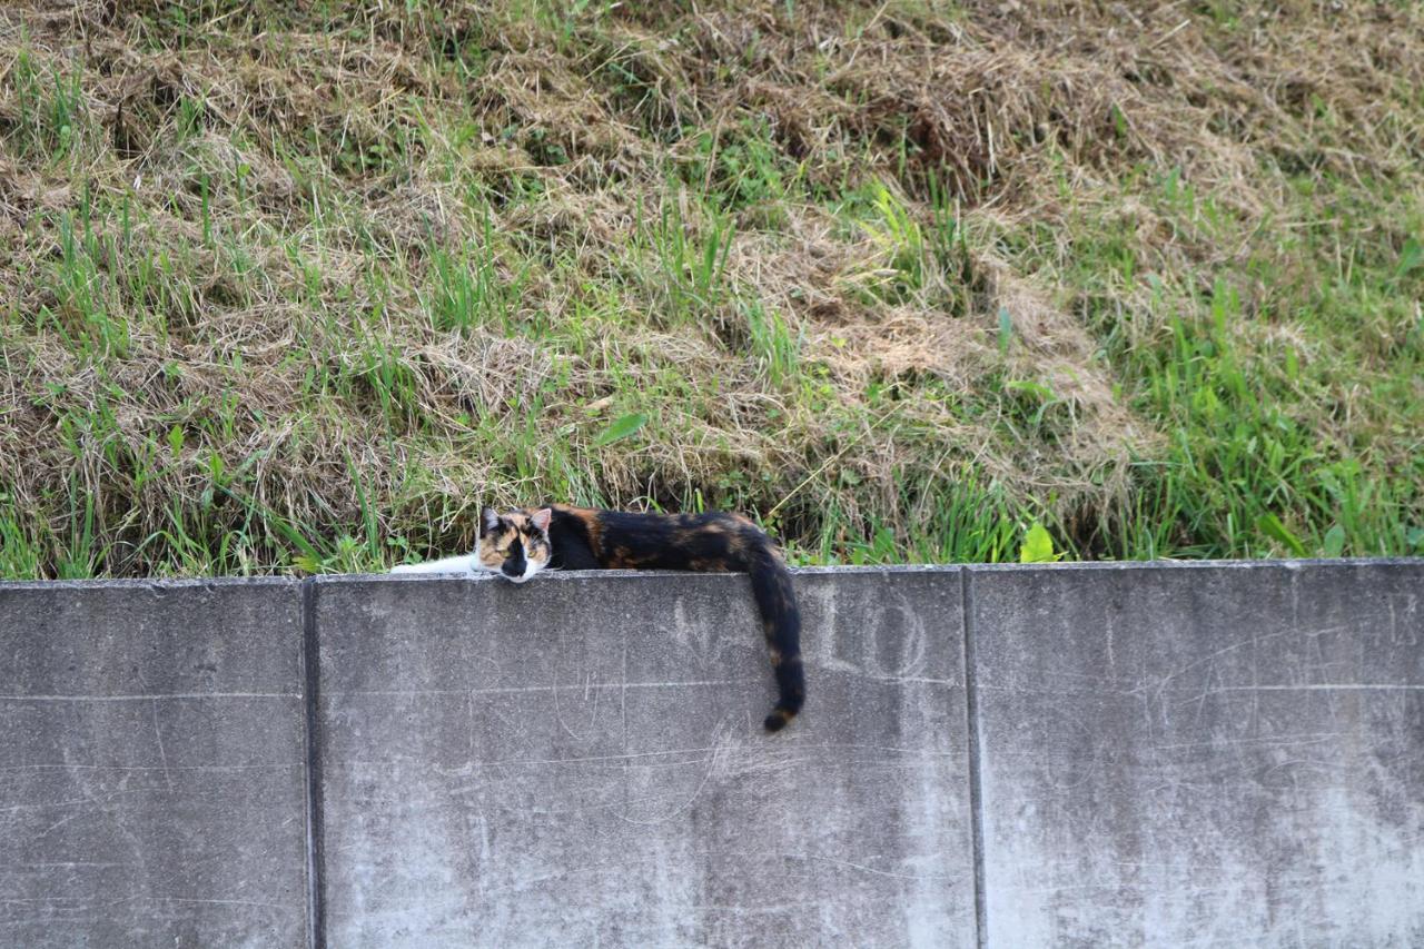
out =
<svg viewBox="0 0 1424 949"><path fill-rule="evenodd" d="M322 581L336 946L971 945L957 571Z"/></svg>

